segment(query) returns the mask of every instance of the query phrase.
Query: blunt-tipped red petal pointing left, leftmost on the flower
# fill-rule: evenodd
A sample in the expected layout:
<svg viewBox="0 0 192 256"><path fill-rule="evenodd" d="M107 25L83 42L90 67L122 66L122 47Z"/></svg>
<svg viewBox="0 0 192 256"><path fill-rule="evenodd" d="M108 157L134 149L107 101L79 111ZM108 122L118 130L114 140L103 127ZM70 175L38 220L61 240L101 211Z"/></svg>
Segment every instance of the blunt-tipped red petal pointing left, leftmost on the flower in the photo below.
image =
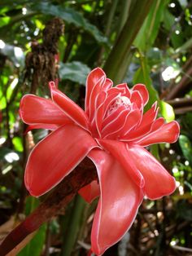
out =
<svg viewBox="0 0 192 256"><path fill-rule="evenodd" d="M29 124L63 125L69 118L52 102L36 95L24 95L20 101L20 117Z"/></svg>

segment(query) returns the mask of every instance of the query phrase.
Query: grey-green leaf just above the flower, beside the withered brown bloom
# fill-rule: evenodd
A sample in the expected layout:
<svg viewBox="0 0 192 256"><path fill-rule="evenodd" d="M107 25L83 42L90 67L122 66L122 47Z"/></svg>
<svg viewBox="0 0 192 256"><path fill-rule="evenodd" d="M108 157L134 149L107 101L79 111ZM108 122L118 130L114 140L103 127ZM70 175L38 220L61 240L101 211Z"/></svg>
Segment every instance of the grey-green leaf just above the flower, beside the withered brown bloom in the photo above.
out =
<svg viewBox="0 0 192 256"><path fill-rule="evenodd" d="M78 82L85 85L86 77L90 72L90 68L79 61L72 61L71 63L60 63L59 76L64 80L68 79L72 82Z"/></svg>

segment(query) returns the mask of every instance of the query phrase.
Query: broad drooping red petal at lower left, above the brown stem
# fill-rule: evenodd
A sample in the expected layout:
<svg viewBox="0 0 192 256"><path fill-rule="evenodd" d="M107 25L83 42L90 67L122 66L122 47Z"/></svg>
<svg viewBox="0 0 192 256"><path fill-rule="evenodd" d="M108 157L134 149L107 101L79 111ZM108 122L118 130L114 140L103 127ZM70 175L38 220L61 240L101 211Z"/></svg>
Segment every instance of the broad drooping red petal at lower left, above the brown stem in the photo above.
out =
<svg viewBox="0 0 192 256"><path fill-rule="evenodd" d="M55 187L98 144L79 126L61 126L37 143L28 157L25 186L33 196Z"/></svg>

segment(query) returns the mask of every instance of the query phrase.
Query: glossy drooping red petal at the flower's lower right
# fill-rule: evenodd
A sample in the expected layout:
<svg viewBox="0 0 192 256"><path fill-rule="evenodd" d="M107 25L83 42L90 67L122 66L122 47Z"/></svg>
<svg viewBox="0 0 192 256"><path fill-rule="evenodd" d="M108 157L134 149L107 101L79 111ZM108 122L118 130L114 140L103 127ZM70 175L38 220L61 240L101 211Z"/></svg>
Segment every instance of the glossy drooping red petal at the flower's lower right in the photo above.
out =
<svg viewBox="0 0 192 256"><path fill-rule="evenodd" d="M139 146L130 146L129 153L145 179L143 190L148 198L158 199L175 191L175 179L168 174L164 166L161 166L150 152Z"/></svg>

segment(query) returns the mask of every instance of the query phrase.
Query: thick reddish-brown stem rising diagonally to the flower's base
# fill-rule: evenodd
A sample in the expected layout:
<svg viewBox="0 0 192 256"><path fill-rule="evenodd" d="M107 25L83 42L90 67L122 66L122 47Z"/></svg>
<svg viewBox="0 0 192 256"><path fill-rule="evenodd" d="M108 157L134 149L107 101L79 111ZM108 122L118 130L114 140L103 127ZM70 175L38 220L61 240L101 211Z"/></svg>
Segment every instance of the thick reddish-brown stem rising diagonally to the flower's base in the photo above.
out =
<svg viewBox="0 0 192 256"><path fill-rule="evenodd" d="M94 164L88 158L85 158L71 174L63 179L63 182L59 183L41 205L2 241L0 256L11 252L26 236L36 231L43 223L49 221L50 218L59 214L59 211L68 205L69 201L76 195L76 192L94 179L97 179Z"/></svg>

